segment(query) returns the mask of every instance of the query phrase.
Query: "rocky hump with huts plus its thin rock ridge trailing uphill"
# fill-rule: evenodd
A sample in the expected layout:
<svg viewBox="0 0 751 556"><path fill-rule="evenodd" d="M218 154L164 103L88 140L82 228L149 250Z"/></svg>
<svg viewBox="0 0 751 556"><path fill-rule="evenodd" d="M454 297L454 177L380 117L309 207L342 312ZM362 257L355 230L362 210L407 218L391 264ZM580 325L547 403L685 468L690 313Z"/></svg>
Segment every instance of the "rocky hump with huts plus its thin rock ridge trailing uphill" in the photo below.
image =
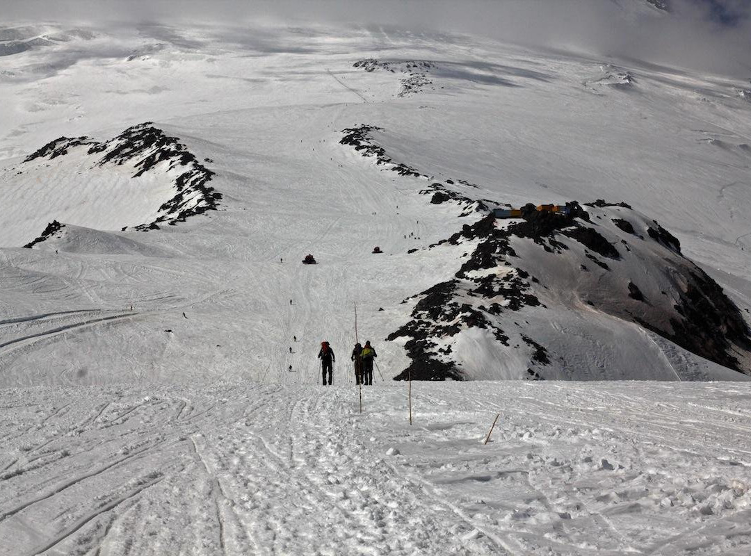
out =
<svg viewBox="0 0 751 556"><path fill-rule="evenodd" d="M427 179L391 158L374 138L383 131L347 128L340 143L383 170ZM507 379L580 377L567 358L593 349L608 359L613 317L622 321L615 326L633 324L632 331L751 374L751 331L740 310L656 221L604 200L567 203L560 212L529 205L521 218L496 220L487 213L498 203L473 199L473 188L448 179L420 191L433 196L431 205L456 203L463 216L486 216L428 248L467 245L454 278L404 301L415 303L412 320L386 338L403 342L412 359L397 379L463 380L487 368ZM587 341L572 350L566 323L577 320Z"/></svg>

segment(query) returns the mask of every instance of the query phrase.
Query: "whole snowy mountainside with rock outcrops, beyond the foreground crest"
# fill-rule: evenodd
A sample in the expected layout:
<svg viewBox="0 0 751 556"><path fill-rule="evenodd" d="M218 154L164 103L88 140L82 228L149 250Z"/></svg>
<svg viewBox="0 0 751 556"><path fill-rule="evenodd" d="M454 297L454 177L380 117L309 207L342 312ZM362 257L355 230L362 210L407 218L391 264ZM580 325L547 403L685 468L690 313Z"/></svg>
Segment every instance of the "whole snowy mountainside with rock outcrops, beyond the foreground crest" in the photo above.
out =
<svg viewBox="0 0 751 556"><path fill-rule="evenodd" d="M742 83L394 29L95 35L5 57L5 384L311 380L355 303L388 377L745 378Z"/></svg>

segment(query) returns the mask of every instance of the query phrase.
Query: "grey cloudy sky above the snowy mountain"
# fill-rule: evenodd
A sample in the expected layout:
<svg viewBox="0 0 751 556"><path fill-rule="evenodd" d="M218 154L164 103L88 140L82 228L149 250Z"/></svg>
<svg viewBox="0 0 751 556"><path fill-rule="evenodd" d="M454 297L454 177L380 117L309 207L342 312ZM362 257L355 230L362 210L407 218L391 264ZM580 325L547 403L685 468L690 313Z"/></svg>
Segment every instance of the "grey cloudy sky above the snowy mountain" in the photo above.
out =
<svg viewBox="0 0 751 556"><path fill-rule="evenodd" d="M751 0L0 0L5 22L390 25L751 77Z"/></svg>

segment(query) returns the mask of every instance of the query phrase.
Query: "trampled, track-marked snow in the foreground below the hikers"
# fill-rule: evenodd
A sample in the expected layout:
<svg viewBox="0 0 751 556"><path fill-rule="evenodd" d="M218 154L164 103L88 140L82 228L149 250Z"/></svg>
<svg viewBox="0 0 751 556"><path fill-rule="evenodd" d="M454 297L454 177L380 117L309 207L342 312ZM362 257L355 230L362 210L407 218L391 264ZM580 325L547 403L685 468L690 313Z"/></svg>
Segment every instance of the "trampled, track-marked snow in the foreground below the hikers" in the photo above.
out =
<svg viewBox="0 0 751 556"><path fill-rule="evenodd" d="M2 390L0 554L749 554L751 386L337 372Z"/></svg>

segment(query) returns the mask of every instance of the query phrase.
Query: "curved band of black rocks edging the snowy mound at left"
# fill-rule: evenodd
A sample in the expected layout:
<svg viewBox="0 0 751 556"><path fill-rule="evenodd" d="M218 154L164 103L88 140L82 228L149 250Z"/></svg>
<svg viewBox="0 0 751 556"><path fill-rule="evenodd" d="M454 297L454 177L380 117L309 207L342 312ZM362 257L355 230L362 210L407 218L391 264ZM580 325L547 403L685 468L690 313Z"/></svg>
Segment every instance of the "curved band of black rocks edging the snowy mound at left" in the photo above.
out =
<svg viewBox="0 0 751 556"><path fill-rule="evenodd" d="M133 178L147 172L179 170L176 178L170 178L174 196L159 207L158 218L134 227L136 230L158 230L160 224L183 222L189 216L216 210L222 199L222 194L207 185L214 173L176 137L167 136L152 122L134 125L104 143L90 137L59 137L26 157L24 163L38 159L54 160L82 148L86 149L86 155L95 157L94 164L98 167L130 165L134 168Z"/></svg>

